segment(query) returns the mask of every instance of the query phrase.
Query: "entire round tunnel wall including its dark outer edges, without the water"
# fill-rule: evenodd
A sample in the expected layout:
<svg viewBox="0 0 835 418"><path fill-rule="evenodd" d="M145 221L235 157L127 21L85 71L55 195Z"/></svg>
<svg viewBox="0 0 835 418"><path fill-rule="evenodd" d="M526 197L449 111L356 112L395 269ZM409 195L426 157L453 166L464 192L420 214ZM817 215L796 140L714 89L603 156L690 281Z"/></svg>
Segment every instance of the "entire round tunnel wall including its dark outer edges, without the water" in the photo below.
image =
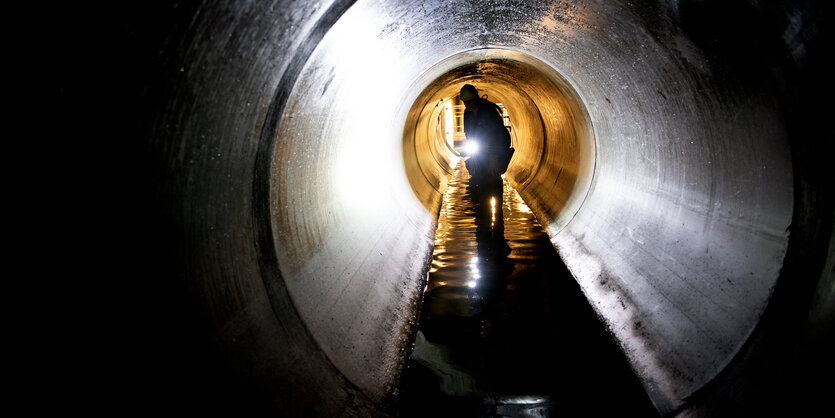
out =
<svg viewBox="0 0 835 418"><path fill-rule="evenodd" d="M506 178L660 415L825 405L822 2L137 8L145 402L395 415L457 161L440 112L471 83L508 110Z"/></svg>

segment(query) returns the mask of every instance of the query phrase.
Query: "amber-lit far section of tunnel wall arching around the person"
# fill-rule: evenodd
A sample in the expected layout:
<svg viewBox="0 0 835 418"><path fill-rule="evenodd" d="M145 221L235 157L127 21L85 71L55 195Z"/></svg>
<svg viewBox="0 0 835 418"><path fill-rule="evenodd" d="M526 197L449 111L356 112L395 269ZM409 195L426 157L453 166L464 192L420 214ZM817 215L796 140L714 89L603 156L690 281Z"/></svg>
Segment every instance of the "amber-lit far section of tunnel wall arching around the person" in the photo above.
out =
<svg viewBox="0 0 835 418"><path fill-rule="evenodd" d="M415 82L425 87L406 115L402 147L415 196L427 209L437 209L437 195L459 158L444 135L448 129L439 126L444 120L440 116L466 83L507 110L516 152L506 177L522 196L533 197L526 201L543 224L550 225L549 233L559 232L591 186L594 129L582 96L568 79L523 52L461 52L431 66Z"/></svg>

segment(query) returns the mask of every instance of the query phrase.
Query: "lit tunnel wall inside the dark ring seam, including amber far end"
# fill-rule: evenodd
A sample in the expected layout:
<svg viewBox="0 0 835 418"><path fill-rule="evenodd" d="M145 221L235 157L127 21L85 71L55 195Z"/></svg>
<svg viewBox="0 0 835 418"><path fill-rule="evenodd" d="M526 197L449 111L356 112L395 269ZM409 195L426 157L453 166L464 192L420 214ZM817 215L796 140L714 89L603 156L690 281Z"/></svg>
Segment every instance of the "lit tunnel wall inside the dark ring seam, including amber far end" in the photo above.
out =
<svg viewBox="0 0 835 418"><path fill-rule="evenodd" d="M269 168L256 191L269 189L269 204L256 216L268 218L275 254L264 259L280 273L264 283L287 292L270 295L274 309L297 312L372 401L387 396L457 158L438 116L470 83L508 109L506 178L653 402L671 410L715 376L784 255L791 165L770 96L724 94L736 80L705 79L686 39L681 55L640 26L617 42L581 31L555 43L564 34L545 20L528 42L498 31L426 44L360 6L294 56L261 135Z"/></svg>

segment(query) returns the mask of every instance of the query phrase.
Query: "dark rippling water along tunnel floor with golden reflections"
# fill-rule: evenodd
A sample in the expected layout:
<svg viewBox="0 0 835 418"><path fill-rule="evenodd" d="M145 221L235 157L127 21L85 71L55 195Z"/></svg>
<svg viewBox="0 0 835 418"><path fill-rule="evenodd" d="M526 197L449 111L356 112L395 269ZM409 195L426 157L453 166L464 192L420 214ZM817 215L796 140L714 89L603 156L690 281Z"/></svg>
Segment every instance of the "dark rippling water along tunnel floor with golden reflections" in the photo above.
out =
<svg viewBox="0 0 835 418"><path fill-rule="evenodd" d="M657 417L518 193L444 195L398 416Z"/></svg>

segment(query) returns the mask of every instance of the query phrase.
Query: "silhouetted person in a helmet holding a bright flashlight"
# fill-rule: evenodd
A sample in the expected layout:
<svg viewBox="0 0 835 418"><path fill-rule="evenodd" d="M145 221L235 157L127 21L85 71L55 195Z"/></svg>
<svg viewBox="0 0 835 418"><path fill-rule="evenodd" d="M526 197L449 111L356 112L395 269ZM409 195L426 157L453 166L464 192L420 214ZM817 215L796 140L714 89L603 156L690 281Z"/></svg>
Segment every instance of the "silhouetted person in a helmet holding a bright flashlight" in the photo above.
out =
<svg viewBox="0 0 835 418"><path fill-rule="evenodd" d="M464 133L467 137L466 161L470 184L482 195L494 195L502 200L502 173L507 170L510 132L504 126L501 108L486 98L479 97L471 84L461 87L464 102ZM475 148L473 150L473 143ZM498 193L497 195L495 193Z"/></svg>

